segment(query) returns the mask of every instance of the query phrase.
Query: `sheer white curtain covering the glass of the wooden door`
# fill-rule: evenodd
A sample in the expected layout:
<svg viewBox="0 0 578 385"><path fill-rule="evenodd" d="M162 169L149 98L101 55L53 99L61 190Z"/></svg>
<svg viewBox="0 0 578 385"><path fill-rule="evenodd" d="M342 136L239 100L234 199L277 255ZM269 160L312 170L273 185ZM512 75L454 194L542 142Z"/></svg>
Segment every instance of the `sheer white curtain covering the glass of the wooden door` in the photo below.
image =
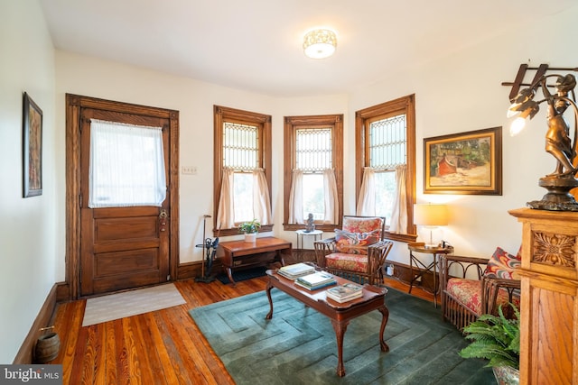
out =
<svg viewBox="0 0 578 385"><path fill-rule="evenodd" d="M162 206L161 127L90 121L89 207Z"/></svg>

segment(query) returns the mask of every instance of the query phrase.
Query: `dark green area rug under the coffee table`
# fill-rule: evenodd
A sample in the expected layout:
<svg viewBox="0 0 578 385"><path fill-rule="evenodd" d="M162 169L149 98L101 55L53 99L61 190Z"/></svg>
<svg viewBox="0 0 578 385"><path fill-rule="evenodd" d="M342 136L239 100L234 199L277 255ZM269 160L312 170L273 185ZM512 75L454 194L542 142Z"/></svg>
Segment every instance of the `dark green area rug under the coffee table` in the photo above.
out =
<svg viewBox="0 0 578 385"><path fill-rule="evenodd" d="M336 374L331 321L280 290L194 308L191 317L239 384L495 384L481 360L458 355L468 342L431 302L389 289L385 339L378 311L352 320L344 338L346 376Z"/></svg>

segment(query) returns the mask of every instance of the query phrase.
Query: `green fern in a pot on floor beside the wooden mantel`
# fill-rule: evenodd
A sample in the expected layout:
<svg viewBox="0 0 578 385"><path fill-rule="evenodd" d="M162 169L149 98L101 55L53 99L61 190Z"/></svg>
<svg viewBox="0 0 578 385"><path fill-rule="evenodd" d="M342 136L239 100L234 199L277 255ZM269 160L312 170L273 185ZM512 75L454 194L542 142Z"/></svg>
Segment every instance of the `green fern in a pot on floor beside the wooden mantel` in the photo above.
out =
<svg viewBox="0 0 578 385"><path fill-rule="evenodd" d="M519 383L520 313L513 304L509 306L514 309L514 319L506 318L500 305L499 316L484 314L464 327L466 339L472 343L460 352L463 358L489 360L486 366L492 368L500 385Z"/></svg>

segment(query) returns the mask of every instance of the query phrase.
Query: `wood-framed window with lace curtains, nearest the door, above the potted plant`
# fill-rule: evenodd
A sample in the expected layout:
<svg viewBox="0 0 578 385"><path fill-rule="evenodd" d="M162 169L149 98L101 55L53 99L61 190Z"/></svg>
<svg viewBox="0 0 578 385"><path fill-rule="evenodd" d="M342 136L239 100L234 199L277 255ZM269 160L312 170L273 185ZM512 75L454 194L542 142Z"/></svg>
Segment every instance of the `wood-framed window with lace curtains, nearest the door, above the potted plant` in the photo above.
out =
<svg viewBox="0 0 578 385"><path fill-rule="evenodd" d="M238 234L257 219L270 231L271 116L215 105L214 124L215 228Z"/></svg>

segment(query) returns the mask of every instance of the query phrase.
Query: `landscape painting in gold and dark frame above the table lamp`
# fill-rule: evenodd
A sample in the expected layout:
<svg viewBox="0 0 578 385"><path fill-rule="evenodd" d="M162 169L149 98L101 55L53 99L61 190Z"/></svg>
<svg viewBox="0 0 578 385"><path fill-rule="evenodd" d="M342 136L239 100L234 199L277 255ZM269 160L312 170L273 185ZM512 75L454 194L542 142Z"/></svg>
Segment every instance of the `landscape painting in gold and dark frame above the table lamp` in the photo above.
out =
<svg viewBox="0 0 578 385"><path fill-rule="evenodd" d="M502 127L425 138L424 193L502 195Z"/></svg>

